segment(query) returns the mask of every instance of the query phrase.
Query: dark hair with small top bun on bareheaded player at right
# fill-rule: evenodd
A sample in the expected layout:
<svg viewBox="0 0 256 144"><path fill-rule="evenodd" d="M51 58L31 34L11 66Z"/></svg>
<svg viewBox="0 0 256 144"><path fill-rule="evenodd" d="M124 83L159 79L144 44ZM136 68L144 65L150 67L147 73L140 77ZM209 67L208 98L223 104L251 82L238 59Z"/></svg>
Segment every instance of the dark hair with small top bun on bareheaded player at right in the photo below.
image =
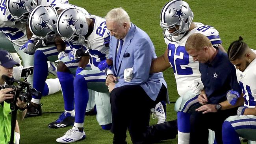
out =
<svg viewBox="0 0 256 144"><path fill-rule="evenodd" d="M228 58L230 61L234 61L237 58L240 58L241 55L245 52L247 44L243 42L243 38L239 36L237 41L233 41L228 48Z"/></svg>

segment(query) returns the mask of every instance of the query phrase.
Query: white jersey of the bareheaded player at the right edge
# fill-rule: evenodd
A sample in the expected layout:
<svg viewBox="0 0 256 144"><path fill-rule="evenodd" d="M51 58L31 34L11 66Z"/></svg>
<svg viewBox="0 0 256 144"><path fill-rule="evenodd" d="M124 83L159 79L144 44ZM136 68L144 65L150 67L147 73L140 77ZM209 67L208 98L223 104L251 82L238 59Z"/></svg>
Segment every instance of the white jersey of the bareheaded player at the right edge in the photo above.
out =
<svg viewBox="0 0 256 144"><path fill-rule="evenodd" d="M254 59L247 68L241 72L236 70L236 77L239 85L243 89L246 107L255 107L256 105L256 59Z"/></svg>

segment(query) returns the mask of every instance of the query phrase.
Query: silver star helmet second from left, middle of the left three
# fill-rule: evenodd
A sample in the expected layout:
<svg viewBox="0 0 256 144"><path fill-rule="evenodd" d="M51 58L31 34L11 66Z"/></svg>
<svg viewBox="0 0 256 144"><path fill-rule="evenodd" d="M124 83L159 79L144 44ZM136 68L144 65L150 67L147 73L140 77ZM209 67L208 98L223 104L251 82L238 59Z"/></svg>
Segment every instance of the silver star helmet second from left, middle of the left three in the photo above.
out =
<svg viewBox="0 0 256 144"><path fill-rule="evenodd" d="M57 11L52 6L37 6L28 16L28 27L30 31L47 41L54 41L57 28Z"/></svg>

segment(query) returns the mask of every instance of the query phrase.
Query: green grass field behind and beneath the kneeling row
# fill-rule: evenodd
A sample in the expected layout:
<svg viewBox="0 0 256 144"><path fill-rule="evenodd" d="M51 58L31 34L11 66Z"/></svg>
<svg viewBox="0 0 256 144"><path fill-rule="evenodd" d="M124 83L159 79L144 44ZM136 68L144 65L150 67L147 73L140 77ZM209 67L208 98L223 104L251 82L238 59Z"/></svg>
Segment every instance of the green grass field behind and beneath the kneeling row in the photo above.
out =
<svg viewBox="0 0 256 144"><path fill-rule="evenodd" d="M112 8L123 7L130 15L131 21L148 33L158 56L162 55L166 49L160 28L160 11L166 2L167 0L70 0L71 4L83 7L89 13L100 17L104 17ZM219 31L226 50L239 35L251 48L256 46L255 0L187 0L187 2L195 15L193 21L214 26ZM168 84L170 101L175 102L178 94L173 70L171 68L166 70L164 77ZM60 114L48 112L63 111L61 92L43 97L41 102L43 115L25 118L20 124L20 144L55 144L56 138L63 136L71 128L50 129L47 126ZM167 120L173 119L176 119L176 113L174 103L171 103L167 105ZM156 120L151 120L150 124L156 124ZM87 138L76 144L111 144L113 134L102 130L95 116L86 116L84 126ZM127 141L131 144L129 136ZM161 142L161 144L176 143L177 138Z"/></svg>

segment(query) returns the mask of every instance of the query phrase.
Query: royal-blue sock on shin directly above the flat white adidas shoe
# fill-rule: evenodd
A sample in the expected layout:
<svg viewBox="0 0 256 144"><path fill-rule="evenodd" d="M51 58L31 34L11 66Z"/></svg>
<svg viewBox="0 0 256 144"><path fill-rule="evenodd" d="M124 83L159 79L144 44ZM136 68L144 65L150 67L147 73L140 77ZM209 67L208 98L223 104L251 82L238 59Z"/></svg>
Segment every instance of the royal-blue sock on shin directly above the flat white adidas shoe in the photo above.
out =
<svg viewBox="0 0 256 144"><path fill-rule="evenodd" d="M74 87L76 88L76 90L74 90L76 112L75 123L82 124L84 121L85 109L89 100L87 83L82 75L76 76L76 78L74 79Z"/></svg>

